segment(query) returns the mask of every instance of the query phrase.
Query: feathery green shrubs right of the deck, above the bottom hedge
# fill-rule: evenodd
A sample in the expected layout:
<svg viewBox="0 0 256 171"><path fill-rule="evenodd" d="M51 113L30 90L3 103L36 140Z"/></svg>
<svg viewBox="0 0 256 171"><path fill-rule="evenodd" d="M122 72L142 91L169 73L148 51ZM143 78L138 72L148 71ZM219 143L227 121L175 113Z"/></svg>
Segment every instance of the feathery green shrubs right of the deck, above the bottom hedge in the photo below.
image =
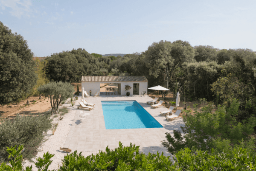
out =
<svg viewBox="0 0 256 171"><path fill-rule="evenodd" d="M250 139L250 135L256 126L256 118L250 117L243 123L237 122L238 108L239 103L233 100L230 107L218 106L215 112L212 112L212 103L202 107L202 112L195 112L195 115L187 112L183 118L185 126L181 126L184 135L181 135L180 130L173 131L174 137L166 133L167 141L162 142L163 146L167 147L170 153L192 147L204 151L214 148L223 152L245 141L246 148L255 151L254 139Z"/></svg>

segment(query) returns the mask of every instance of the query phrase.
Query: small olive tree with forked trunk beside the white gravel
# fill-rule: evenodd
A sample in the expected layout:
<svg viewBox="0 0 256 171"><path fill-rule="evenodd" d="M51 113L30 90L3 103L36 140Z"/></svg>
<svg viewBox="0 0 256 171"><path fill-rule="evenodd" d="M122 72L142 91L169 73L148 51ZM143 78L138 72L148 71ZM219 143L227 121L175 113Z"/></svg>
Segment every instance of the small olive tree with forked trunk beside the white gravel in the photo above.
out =
<svg viewBox="0 0 256 171"><path fill-rule="evenodd" d="M52 114L53 110L55 110L57 114L61 102L67 98L72 98L75 92L73 85L62 81L44 84L38 88L38 91L50 98Z"/></svg>

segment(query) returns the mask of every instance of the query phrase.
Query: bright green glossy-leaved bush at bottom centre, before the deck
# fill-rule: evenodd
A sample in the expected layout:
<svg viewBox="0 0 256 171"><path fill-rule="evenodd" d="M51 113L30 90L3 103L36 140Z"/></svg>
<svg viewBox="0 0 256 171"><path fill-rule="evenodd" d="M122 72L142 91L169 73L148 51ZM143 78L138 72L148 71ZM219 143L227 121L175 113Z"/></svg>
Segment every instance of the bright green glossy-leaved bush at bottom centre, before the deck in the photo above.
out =
<svg viewBox="0 0 256 171"><path fill-rule="evenodd" d="M157 154L140 154L139 146L130 144L128 147L123 147L119 142L119 147L115 150L106 148L106 152L100 151L96 155L84 157L81 153L77 154L75 151L72 154L67 154L64 157L63 165L60 167L61 171L169 171L176 170L172 161L163 153Z"/></svg>

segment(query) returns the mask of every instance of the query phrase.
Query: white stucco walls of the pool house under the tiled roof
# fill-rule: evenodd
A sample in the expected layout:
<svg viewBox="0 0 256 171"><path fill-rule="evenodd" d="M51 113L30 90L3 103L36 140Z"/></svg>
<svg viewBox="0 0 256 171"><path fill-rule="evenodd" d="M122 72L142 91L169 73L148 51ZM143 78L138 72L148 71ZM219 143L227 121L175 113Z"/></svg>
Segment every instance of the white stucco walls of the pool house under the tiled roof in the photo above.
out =
<svg viewBox="0 0 256 171"><path fill-rule="evenodd" d="M139 95L141 95L141 92L146 91L146 94L148 94L148 82L145 81L137 81L137 82L82 82L82 87L84 87L84 91L86 91L88 94L90 90L92 91L92 95L94 95L97 91L100 90L100 84L104 83L116 83L121 84L121 95L126 95L125 91L125 85L131 86L131 89L129 90L130 95L133 95L133 84L139 83Z"/></svg>

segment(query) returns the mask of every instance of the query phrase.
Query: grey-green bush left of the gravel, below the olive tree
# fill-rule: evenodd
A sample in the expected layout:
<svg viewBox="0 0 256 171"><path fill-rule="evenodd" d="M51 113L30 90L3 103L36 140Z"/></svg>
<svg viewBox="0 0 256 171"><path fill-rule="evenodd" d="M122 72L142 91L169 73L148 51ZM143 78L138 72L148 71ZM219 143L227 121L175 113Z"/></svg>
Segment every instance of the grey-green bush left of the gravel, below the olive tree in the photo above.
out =
<svg viewBox="0 0 256 171"><path fill-rule="evenodd" d="M49 112L39 116L20 116L2 119L0 122L0 162L8 161L6 147L24 145L23 156L31 159L37 154L37 149L43 140L43 133L51 127Z"/></svg>

